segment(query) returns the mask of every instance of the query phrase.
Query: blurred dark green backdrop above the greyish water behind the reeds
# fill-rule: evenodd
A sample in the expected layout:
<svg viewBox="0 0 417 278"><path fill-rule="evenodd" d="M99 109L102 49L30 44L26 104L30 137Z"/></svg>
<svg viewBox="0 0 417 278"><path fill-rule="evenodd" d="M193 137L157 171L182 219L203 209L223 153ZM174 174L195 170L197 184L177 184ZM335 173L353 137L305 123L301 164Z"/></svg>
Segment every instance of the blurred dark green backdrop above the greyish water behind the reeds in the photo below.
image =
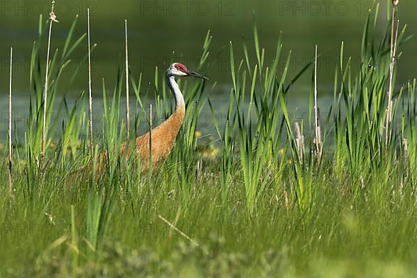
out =
<svg viewBox="0 0 417 278"><path fill-rule="evenodd" d="M390 1L391 2L391 1ZM357 61L360 54L361 33L373 1L56 1L59 23L54 24L52 50L63 47L63 42L75 15L79 15L77 35L86 32L86 9L90 8L92 42L98 47L92 60L93 88L101 92L101 79L114 83L117 67L124 58L124 19L129 22L129 58L135 76L144 74L144 81L153 83L154 68L161 72L172 60L181 61L193 70L197 67L204 36L211 30L213 42L209 65L201 71L218 81L215 92L222 93L221 85L228 85L229 41L234 42L236 59L242 58L243 36L252 44L254 11L261 46L265 47L265 60L270 63L279 31L283 32L284 57L293 50L290 74L300 71L313 58L314 45L318 44L320 58L319 86L323 93L332 90L334 65L337 63L341 41L345 41L345 56ZM379 22L382 32L386 27L386 3L381 1ZM408 34L417 28L417 2L400 1L398 18L408 25ZM26 93L28 86L28 61L31 47L37 38L38 17L46 16L48 1L1 1L1 95L8 88L8 56L15 48L15 92ZM46 43L46 42L45 42ZM417 40L412 38L401 47L404 54L398 63L401 83L416 76ZM69 72L80 63L87 51L84 41L73 55ZM46 56L46 51L45 56ZM121 62L120 62L121 61ZM284 67L283 60L279 65ZM311 74L306 74L297 88L309 87ZM63 85L65 92L79 92L88 88L87 65L73 84ZM222 89L223 88L223 89Z"/></svg>

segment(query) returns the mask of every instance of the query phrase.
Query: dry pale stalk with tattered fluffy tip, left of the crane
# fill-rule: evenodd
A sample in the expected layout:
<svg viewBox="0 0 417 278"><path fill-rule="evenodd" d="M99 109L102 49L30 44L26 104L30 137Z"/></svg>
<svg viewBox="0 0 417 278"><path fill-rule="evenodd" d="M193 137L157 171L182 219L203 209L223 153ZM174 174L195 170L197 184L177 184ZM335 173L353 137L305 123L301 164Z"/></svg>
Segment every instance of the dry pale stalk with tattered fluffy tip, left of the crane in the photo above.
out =
<svg viewBox="0 0 417 278"><path fill-rule="evenodd" d="M49 52L51 49L51 33L52 33L52 23L58 22L56 20L56 15L54 13L55 1L51 2L51 13L49 13L49 35L48 35L48 51L47 51L47 68L45 72L45 85L44 85L44 111L42 119L42 151L40 153L40 168L41 175L44 176L44 157L45 157L45 144L47 140L47 131L46 131L46 122L47 122L47 100L48 100L48 77L49 77Z"/></svg>

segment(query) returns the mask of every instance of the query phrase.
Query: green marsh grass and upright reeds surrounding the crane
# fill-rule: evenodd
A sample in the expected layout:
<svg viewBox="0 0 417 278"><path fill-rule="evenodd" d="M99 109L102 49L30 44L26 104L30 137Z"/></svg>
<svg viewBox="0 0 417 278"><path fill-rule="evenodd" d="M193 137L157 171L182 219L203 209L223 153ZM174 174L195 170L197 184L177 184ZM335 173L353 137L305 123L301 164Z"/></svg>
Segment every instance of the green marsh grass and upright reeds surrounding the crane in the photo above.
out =
<svg viewBox="0 0 417 278"><path fill-rule="evenodd" d="M387 19L381 36L373 22L369 17L363 31L359 68L350 67L341 45L334 104L322 108L328 116L320 119L319 158L313 117L299 122L301 156L286 106L291 85L312 73L313 63L288 80L291 54L279 71L278 38L275 59L265 60L256 24L253 44L242 46L243 58L234 54L238 43L230 44L229 109L226 122L215 121L215 138L196 134L204 107L215 118L215 106L205 97L211 83L181 80L189 113L163 168L147 177L136 167L138 158L117 153L128 139L120 115L122 66L111 96L102 82L104 120L95 156L90 157L81 92L73 107L65 99L58 104L58 111L69 115L66 122L46 119L49 143L41 176L44 65L34 63L28 130L24 138L14 138L13 195L7 186L0 188L0 277L411 277L417 259L417 84L396 84L386 145L391 24ZM72 38L75 28L76 22L63 54L57 51L50 65L48 111L56 105L60 72L71 63L71 49L84 40ZM401 49L408 39L404 29L398 38ZM44 40L40 24L33 57L44 51ZM208 32L201 67L211 59L210 43ZM249 49L256 60L250 60ZM160 70L148 88L141 75L136 79L129 72L136 95L131 130L136 133L148 117L147 95L156 95L156 118L172 111L164 101L170 92ZM312 98L306 97L309 111ZM204 155L213 149L217 154ZM109 163L98 181L95 170L73 173L97 161L100 152L108 152ZM8 183L4 157L2 185Z"/></svg>

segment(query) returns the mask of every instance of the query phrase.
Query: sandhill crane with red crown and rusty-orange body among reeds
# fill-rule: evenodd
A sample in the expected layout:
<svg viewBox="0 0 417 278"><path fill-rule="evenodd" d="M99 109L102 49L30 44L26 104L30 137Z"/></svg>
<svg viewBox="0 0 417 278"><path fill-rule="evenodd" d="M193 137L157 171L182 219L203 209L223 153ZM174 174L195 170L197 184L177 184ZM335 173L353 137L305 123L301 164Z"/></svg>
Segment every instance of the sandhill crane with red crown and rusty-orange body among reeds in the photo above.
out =
<svg viewBox="0 0 417 278"><path fill-rule="evenodd" d="M186 114L186 103L181 90L177 84L176 78L184 76L193 76L199 79L208 80L206 76L197 72L191 72L181 63L173 63L168 67L166 72L167 85L170 88L175 99L175 109L172 115L162 124L152 129L150 133L136 138L136 144L132 141L124 142L120 146L120 155L129 157L133 148L140 157L140 169L142 172L149 170L149 147L152 149L152 169L157 169L165 161L174 146L175 139ZM149 134L151 143L149 144Z"/></svg>

